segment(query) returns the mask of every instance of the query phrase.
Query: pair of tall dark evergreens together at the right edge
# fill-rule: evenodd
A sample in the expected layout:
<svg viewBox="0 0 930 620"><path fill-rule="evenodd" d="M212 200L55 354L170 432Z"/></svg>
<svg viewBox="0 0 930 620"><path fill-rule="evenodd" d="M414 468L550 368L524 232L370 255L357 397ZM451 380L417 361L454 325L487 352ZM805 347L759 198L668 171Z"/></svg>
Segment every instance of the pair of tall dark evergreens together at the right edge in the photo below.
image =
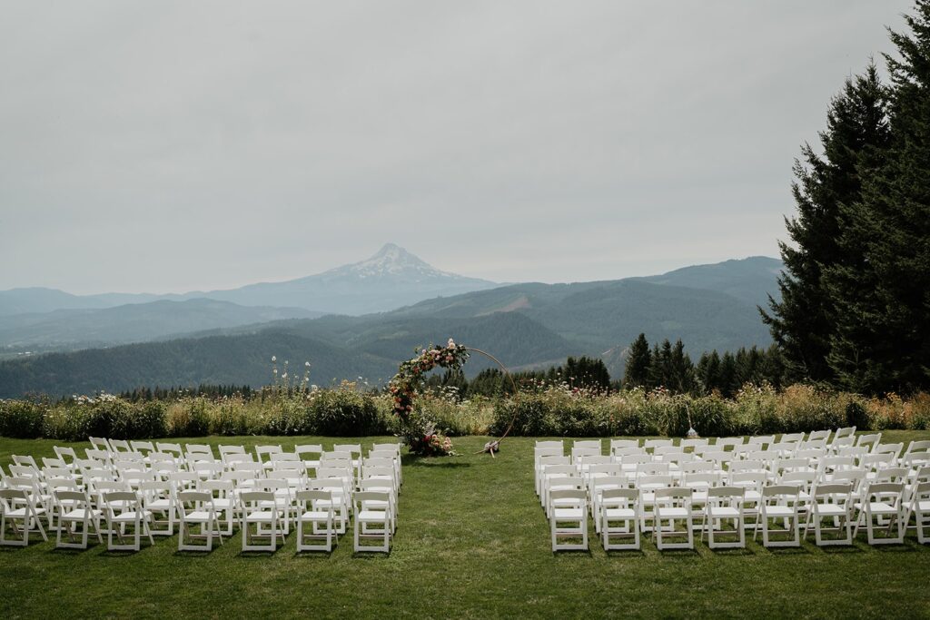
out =
<svg viewBox="0 0 930 620"><path fill-rule="evenodd" d="M761 310L790 381L930 389L930 0L904 18L890 82L874 62L847 79L794 165L780 299Z"/></svg>

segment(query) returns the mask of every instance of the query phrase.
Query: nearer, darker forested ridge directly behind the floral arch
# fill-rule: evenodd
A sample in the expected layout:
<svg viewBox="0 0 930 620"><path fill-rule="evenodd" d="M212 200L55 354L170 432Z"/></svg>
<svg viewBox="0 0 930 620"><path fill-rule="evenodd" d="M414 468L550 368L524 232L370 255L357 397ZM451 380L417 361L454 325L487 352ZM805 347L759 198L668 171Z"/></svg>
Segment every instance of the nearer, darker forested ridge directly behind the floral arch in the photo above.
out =
<svg viewBox="0 0 930 620"><path fill-rule="evenodd" d="M504 363L521 366L557 362L575 350L551 331L524 316L498 314L446 322L393 321L361 329L342 346L313 335L312 321L285 322L252 333L179 338L111 349L49 353L0 362L0 398L43 392L55 397L110 392L139 386L193 386L200 383L260 386L272 382L272 355L278 366L290 362L292 379L312 363L311 383L329 385L343 378L370 383L389 379L413 348L458 337L473 347L494 350ZM487 367L483 359L472 373Z"/></svg>

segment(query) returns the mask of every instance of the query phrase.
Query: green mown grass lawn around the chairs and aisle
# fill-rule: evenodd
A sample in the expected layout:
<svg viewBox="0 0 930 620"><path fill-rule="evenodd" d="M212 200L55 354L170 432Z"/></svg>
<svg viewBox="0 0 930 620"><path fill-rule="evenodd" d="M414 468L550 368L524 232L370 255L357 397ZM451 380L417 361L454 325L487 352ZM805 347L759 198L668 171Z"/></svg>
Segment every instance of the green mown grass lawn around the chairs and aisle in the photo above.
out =
<svg viewBox="0 0 930 620"><path fill-rule="evenodd" d="M917 439L930 432L883 441ZM454 457L405 456L390 555L353 557L351 532L331 555L299 557L293 532L273 555L248 556L238 531L204 555L179 555L177 536L128 555L55 550L52 539L0 548L0 617L930 617L930 547L913 534L903 546L766 550L750 541L662 553L646 537L642 552L610 554L592 538L589 552L554 556L533 488L535 440L507 439L494 459L473 455L485 441L458 439ZM0 439L0 465L12 454L52 455L55 443Z"/></svg>

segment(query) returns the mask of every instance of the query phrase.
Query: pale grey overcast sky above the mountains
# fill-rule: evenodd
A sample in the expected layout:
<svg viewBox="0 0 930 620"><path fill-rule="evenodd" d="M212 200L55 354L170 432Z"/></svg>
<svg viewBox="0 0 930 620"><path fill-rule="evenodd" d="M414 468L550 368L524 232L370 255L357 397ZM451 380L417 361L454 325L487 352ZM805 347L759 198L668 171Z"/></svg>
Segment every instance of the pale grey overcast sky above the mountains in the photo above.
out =
<svg viewBox="0 0 930 620"><path fill-rule="evenodd" d="M393 242L498 282L777 256L902 0L0 1L0 289L181 292Z"/></svg>

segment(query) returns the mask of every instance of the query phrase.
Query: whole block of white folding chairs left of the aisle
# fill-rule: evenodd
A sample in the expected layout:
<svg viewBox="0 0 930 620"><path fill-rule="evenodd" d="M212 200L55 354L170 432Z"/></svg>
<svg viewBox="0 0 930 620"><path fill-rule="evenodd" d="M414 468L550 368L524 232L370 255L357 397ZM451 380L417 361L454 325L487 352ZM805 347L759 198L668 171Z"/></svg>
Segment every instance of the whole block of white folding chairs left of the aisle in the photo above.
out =
<svg viewBox="0 0 930 620"><path fill-rule="evenodd" d="M374 446L357 464L317 464L316 477L307 475L302 462L293 468L278 468L275 462L268 470L240 470L233 461L229 469L165 471L138 460L113 459L106 467L98 463L98 468L74 469L38 468L34 460L29 464L22 458L9 466L10 476L0 468L0 544L27 545L33 532L47 539L47 527L58 532L61 547L86 548L93 531L100 541L106 533L110 548L139 550L142 537L152 541L153 534L173 535L177 523L179 550L209 550L214 537L221 543L223 535L233 534L233 523L239 523L244 550L273 550L293 520L299 551L331 550L336 535L354 521L355 550L390 551L400 452L396 444L386 445L392 447ZM322 463L333 465L325 459ZM107 522L105 531L101 521ZM7 522L16 539L7 538ZM206 540L204 546L192 546L191 527L199 528L196 537ZM130 544L124 541L127 531ZM324 537L325 543L313 546L307 542L313 537ZM257 546L256 538L268 542ZM378 544L364 544L371 539Z"/></svg>

